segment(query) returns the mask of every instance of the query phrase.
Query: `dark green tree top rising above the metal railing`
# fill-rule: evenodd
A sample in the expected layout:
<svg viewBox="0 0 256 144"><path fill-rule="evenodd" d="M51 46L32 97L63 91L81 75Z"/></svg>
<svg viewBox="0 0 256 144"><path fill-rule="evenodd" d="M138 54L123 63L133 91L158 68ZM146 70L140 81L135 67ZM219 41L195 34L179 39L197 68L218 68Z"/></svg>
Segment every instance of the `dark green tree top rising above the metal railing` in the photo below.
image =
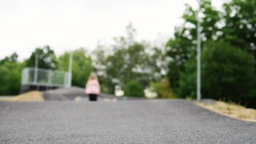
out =
<svg viewBox="0 0 256 144"><path fill-rule="evenodd" d="M38 55L38 68L56 69L56 56L49 46L38 47L26 60L26 67L35 67L35 56Z"/></svg>

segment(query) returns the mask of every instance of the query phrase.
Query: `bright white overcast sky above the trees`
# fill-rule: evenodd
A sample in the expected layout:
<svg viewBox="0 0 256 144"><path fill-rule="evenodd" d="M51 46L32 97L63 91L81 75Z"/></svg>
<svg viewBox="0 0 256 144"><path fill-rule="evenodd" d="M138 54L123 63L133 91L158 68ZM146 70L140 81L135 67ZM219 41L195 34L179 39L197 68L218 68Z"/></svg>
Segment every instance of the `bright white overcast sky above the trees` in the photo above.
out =
<svg viewBox="0 0 256 144"><path fill-rule="evenodd" d="M212 1L221 7L222 0ZM0 0L0 59L28 58L49 45L57 56L124 35L132 22L137 40L166 42L181 23L184 4L197 0Z"/></svg>

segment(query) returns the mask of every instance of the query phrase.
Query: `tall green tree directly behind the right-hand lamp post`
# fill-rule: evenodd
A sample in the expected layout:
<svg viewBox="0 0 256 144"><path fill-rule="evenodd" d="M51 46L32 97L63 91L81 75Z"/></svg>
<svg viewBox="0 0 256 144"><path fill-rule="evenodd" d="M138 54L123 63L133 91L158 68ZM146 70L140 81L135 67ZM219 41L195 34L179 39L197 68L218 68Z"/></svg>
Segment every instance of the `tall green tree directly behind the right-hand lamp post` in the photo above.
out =
<svg viewBox="0 0 256 144"><path fill-rule="evenodd" d="M210 0L201 2L201 35L202 44L207 40L218 40L220 12L212 7ZM172 59L168 65L168 77L171 87L177 92L179 88L180 73L184 71L184 63L194 55L197 49L197 10L186 5L183 14L184 23L175 28L174 38L166 43L167 55Z"/></svg>

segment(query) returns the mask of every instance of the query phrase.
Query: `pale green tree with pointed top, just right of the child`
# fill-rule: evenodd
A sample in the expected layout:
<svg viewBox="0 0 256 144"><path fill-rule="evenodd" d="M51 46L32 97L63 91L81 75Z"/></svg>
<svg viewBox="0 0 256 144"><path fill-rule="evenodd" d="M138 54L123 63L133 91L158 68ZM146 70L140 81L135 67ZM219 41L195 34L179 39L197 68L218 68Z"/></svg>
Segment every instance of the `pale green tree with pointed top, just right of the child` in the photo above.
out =
<svg viewBox="0 0 256 144"><path fill-rule="evenodd" d="M145 41L136 42L136 31L132 25L128 25L126 31L126 37L114 39L110 50L105 50L108 46L98 46L94 52L97 74L102 80L104 91L110 94L114 94L116 89L121 89L131 79L146 88L151 81L162 79L166 67L163 50Z"/></svg>

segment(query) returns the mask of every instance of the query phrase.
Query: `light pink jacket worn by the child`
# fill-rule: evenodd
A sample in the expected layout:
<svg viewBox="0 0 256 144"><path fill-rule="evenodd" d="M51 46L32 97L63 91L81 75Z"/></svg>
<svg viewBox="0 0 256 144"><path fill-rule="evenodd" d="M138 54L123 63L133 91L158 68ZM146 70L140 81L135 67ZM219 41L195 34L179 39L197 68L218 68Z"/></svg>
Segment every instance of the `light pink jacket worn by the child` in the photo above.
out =
<svg viewBox="0 0 256 144"><path fill-rule="evenodd" d="M100 94L100 84L98 80L89 80L85 86L85 94Z"/></svg>

